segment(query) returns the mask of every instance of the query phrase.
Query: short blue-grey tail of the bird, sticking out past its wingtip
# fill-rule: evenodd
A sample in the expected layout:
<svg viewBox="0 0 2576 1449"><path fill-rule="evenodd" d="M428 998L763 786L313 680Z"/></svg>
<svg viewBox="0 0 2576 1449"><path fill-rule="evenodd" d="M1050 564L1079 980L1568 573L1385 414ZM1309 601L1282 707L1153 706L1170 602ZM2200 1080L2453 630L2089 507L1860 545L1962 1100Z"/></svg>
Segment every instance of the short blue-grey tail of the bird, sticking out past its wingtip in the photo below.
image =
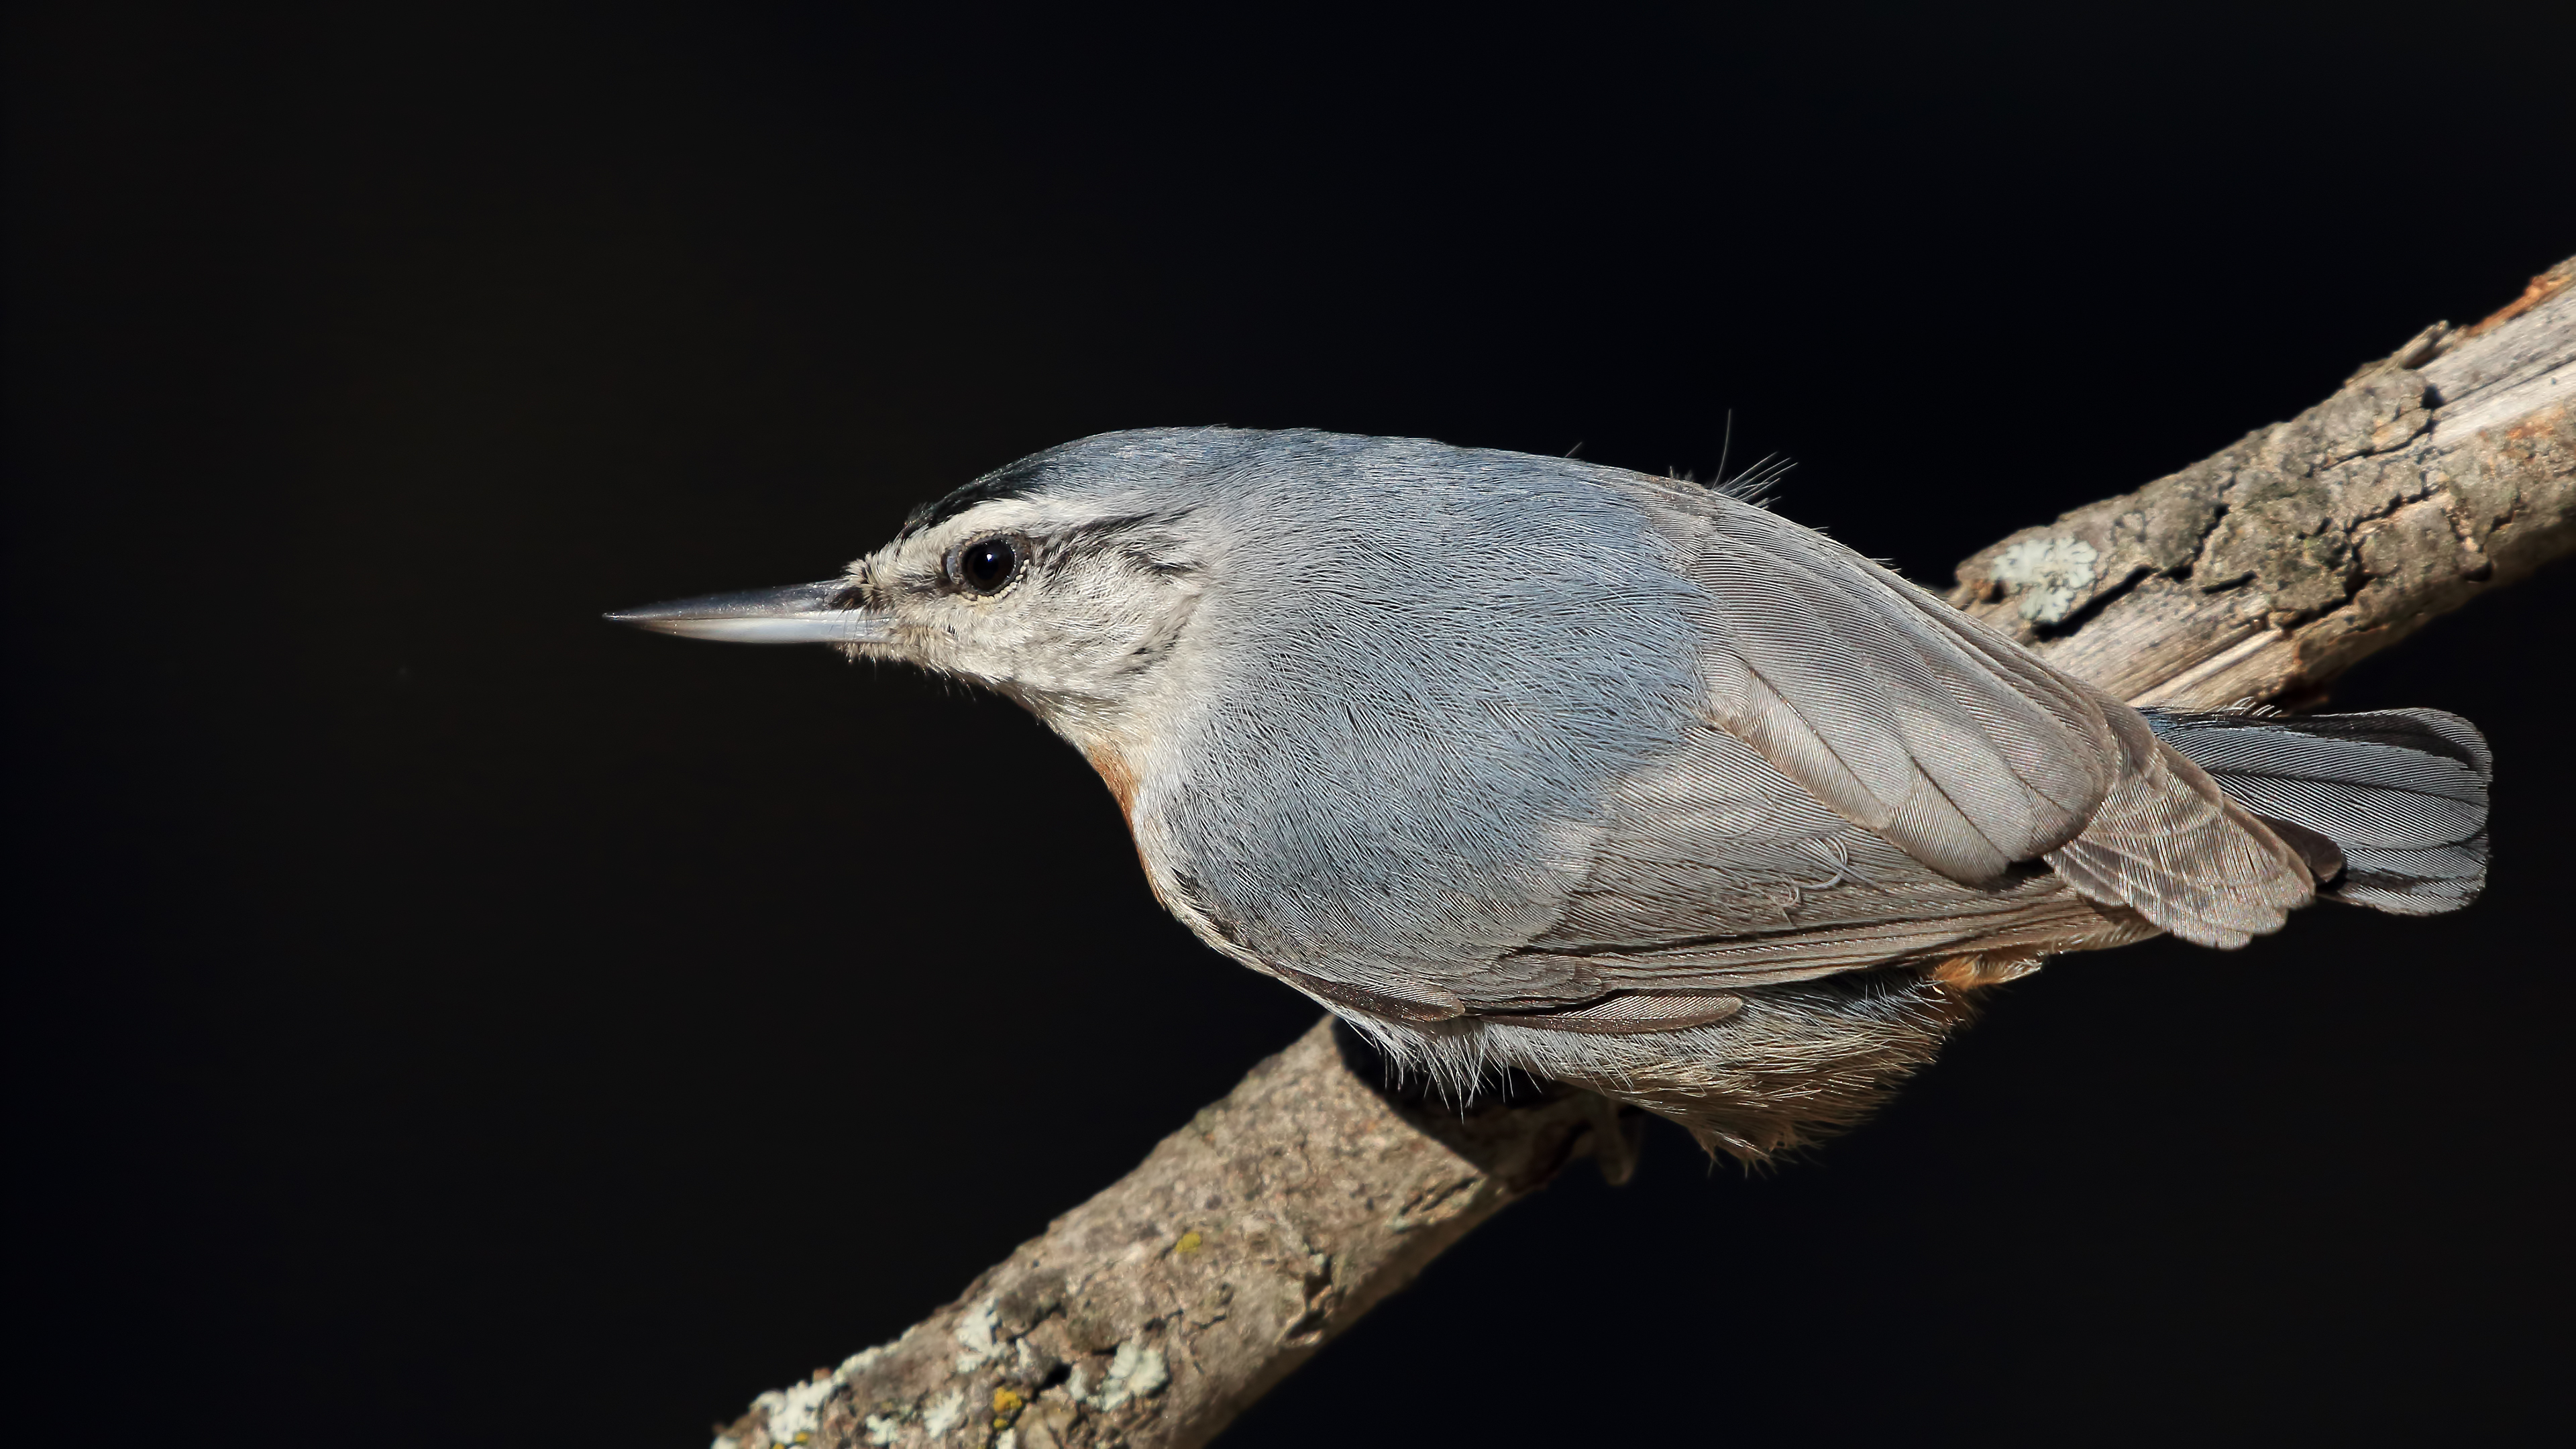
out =
<svg viewBox="0 0 2576 1449"><path fill-rule="evenodd" d="M2342 848L2342 871L2318 895L2439 915L2486 887L2494 758L2468 719L2439 709L2141 714L2249 812Z"/></svg>

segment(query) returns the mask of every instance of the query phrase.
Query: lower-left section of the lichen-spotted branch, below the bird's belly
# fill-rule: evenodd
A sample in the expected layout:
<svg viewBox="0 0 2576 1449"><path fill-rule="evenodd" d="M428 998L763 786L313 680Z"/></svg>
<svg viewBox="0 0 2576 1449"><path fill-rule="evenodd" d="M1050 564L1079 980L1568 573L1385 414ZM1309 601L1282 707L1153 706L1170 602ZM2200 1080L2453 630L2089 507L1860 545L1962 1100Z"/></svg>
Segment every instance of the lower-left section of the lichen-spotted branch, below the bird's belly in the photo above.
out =
<svg viewBox="0 0 2576 1449"><path fill-rule="evenodd" d="M1633 1163L1592 1093L1461 1111L1381 1083L1319 1021L956 1302L760 1395L719 1449L1200 1444L1571 1158Z"/></svg>

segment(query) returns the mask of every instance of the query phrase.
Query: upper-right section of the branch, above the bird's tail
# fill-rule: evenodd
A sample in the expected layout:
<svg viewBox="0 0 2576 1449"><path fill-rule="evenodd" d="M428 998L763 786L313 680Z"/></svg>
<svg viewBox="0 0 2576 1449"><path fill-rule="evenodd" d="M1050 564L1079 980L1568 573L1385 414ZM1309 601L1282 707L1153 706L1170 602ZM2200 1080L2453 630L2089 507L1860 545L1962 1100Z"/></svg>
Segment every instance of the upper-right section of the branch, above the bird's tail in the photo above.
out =
<svg viewBox="0 0 2576 1449"><path fill-rule="evenodd" d="M2576 260L2476 327L1960 565L1953 603L2136 704L2313 701L2576 549Z"/></svg>

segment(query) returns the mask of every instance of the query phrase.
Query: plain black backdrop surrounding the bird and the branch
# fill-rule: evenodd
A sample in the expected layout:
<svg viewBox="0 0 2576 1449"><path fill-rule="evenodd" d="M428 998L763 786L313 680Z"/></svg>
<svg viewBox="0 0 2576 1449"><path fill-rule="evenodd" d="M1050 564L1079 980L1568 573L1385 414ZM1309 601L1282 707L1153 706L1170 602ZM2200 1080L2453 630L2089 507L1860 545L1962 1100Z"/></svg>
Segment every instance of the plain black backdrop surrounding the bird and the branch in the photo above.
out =
<svg viewBox="0 0 2576 1449"><path fill-rule="evenodd" d="M698 1444L1314 1016L1007 704L603 608L1103 428L1728 410L1947 580L2576 253L2563 8L1211 15L15 13L13 1436ZM1770 1176L1659 1132L1229 1444L2561 1423L2571 627L2339 691L2494 735L2473 913L2063 962Z"/></svg>

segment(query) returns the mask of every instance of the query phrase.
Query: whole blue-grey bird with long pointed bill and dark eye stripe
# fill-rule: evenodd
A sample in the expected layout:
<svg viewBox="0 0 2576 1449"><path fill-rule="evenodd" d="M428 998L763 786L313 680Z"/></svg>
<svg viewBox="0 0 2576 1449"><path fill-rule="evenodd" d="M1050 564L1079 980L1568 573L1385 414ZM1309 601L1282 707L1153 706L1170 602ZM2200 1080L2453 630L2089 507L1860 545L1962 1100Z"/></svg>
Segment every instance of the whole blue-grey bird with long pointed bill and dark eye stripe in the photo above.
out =
<svg viewBox="0 0 2576 1449"><path fill-rule="evenodd" d="M1754 500L1574 459L1105 433L845 578L611 619L994 688L1216 951L1453 1088L1520 1067L1747 1160L2050 954L2486 879L2455 714L2138 712Z"/></svg>

